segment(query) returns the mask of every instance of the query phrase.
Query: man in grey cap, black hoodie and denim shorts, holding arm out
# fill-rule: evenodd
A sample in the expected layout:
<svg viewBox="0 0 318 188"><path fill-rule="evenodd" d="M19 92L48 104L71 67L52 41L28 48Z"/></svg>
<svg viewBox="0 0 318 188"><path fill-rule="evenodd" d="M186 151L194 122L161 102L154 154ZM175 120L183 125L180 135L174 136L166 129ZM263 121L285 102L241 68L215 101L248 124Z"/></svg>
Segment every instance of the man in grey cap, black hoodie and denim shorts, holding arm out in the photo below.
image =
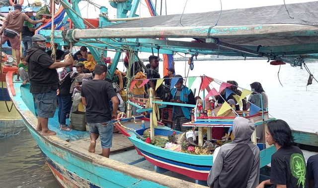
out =
<svg viewBox="0 0 318 188"><path fill-rule="evenodd" d="M28 62L30 93L33 94L38 108L36 130L42 130L42 135L56 135L56 132L48 128L48 120L55 113L59 89L59 75L56 69L73 65L73 59L69 58L63 63L54 62L45 53L45 40L46 38L42 35L33 35L32 46L27 50L25 60Z"/></svg>

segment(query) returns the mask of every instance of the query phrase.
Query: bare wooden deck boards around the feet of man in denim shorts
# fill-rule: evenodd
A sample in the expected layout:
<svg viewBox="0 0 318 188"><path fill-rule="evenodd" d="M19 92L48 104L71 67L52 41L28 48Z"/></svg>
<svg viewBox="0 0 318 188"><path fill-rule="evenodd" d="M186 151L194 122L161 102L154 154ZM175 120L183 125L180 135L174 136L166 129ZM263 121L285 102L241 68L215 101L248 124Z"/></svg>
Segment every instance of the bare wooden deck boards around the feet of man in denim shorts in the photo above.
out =
<svg viewBox="0 0 318 188"><path fill-rule="evenodd" d="M87 150L90 143L90 138L89 137L83 138L80 140L72 141L71 143L77 145L80 148ZM124 136L123 134L118 134L118 133L113 134L112 145L113 147L110 148L110 153L116 153L116 152L130 150L134 148L134 145L127 139L126 136ZM96 140L95 153L101 154L101 144L100 144L99 138Z"/></svg>

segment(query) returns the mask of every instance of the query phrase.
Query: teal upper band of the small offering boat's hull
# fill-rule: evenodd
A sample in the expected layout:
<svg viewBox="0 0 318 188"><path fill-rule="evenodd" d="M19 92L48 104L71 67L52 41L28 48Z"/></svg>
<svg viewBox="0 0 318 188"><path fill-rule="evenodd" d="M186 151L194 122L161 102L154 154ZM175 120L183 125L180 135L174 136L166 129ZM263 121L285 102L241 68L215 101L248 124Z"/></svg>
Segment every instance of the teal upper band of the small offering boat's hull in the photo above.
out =
<svg viewBox="0 0 318 188"><path fill-rule="evenodd" d="M173 159L174 161L206 166L213 164L213 155L192 155L188 153L176 152L166 150L151 144L147 144L142 140L139 140L136 135L131 133L131 137L128 139L137 147L153 155L157 155L166 159Z"/></svg>

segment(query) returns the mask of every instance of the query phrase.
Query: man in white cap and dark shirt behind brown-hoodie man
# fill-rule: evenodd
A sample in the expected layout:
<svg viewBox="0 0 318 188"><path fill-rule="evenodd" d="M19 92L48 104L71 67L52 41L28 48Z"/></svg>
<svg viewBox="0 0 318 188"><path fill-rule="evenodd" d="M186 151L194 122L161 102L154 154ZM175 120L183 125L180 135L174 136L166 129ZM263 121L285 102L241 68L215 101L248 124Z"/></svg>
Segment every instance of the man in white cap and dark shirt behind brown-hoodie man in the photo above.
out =
<svg viewBox="0 0 318 188"><path fill-rule="evenodd" d="M24 8L24 12L28 17L33 16L33 10L29 7ZM23 22L22 27L22 42L23 42L23 55L26 56L26 50L32 45L32 36L34 35L34 25L28 21Z"/></svg>

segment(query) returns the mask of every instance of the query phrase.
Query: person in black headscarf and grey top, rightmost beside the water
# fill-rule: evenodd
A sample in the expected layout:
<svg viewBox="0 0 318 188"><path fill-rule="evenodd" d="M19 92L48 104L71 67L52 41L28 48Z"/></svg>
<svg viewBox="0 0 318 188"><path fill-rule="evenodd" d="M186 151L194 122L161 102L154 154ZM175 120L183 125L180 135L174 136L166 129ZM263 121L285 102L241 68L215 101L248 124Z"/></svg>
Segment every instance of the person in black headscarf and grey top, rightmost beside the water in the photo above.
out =
<svg viewBox="0 0 318 188"><path fill-rule="evenodd" d="M259 108L262 108L261 98L260 98L260 96L262 95L263 109L265 110L268 107L268 97L265 91L263 90L262 85L259 82L253 82L252 84L250 84L250 88L253 93L250 94L248 97L246 108L249 109L250 102L258 106Z"/></svg>

